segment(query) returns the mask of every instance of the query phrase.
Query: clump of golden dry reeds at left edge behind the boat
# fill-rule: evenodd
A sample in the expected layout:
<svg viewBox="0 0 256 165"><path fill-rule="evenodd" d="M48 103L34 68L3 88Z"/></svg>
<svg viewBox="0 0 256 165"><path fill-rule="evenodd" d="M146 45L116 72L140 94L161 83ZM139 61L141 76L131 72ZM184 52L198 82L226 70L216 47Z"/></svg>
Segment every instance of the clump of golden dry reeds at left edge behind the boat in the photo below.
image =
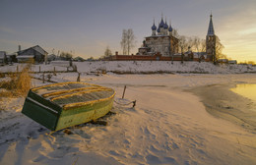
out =
<svg viewBox="0 0 256 165"><path fill-rule="evenodd" d="M20 73L9 73L10 79L0 82L0 88L7 89L5 92L1 92L1 96L27 95L32 87L32 78L29 72L30 65L27 65Z"/></svg>

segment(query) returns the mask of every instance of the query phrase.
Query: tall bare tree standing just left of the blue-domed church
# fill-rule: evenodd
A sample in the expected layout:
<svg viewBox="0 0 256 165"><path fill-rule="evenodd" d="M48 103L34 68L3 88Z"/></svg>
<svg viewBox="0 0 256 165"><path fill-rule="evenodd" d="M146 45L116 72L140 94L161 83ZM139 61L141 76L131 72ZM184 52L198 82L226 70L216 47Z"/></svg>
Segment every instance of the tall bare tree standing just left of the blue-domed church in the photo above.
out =
<svg viewBox="0 0 256 165"><path fill-rule="evenodd" d="M123 54L130 54L130 51L135 46L135 35L133 33L133 29L123 29L122 40L120 42L121 47L123 49Z"/></svg>

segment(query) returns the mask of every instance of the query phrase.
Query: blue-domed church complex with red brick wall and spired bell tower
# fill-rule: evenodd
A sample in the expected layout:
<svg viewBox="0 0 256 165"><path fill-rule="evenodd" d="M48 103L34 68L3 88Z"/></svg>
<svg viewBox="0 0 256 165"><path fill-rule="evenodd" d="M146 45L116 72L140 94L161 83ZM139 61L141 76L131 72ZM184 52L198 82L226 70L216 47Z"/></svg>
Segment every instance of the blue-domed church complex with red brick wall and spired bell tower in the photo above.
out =
<svg viewBox="0 0 256 165"><path fill-rule="evenodd" d="M198 62L218 62L216 58L216 43L218 36L215 34L213 16L210 15L209 27L206 35L206 52L192 52L189 48L187 52L179 51L179 39L173 36L171 24L167 25L166 19L163 22L162 16L157 27L155 20L153 23L152 35L145 37L142 47L138 49L136 55L115 55L103 60L120 61L198 61Z"/></svg>

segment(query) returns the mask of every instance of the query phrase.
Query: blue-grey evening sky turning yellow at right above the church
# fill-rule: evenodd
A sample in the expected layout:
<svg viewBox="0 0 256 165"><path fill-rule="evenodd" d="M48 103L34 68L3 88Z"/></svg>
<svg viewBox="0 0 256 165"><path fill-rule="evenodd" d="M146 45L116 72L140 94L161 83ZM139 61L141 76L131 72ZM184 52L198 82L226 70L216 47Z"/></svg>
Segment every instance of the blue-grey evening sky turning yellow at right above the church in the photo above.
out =
<svg viewBox="0 0 256 165"><path fill-rule="evenodd" d="M122 30L132 28L135 54L161 14L180 35L205 38L211 12L224 54L256 62L255 0L0 0L0 51L40 45L97 58L106 46L121 53Z"/></svg>

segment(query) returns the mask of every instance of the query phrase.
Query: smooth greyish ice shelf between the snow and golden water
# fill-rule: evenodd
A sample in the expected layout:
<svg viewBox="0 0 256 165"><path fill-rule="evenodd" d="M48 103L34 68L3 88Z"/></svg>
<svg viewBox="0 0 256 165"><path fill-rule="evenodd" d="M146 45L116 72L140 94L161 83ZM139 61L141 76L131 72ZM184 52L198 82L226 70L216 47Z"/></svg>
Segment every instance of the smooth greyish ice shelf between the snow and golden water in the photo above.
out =
<svg viewBox="0 0 256 165"><path fill-rule="evenodd" d="M252 100L231 91L230 88L235 87L236 84L210 84L187 91L200 98L209 114L256 134L256 112L249 110L253 108Z"/></svg>

